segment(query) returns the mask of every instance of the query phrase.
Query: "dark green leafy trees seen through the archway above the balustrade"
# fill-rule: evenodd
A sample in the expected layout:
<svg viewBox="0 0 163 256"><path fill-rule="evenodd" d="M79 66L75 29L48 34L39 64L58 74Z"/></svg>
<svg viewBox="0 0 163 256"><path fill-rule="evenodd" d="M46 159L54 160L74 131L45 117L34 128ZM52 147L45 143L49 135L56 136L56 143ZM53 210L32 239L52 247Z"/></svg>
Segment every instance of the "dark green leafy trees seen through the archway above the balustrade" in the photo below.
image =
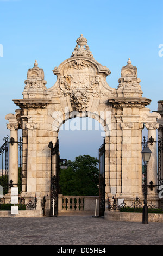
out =
<svg viewBox="0 0 163 256"><path fill-rule="evenodd" d="M60 170L61 193L70 196L98 196L98 159L80 155Z"/></svg>

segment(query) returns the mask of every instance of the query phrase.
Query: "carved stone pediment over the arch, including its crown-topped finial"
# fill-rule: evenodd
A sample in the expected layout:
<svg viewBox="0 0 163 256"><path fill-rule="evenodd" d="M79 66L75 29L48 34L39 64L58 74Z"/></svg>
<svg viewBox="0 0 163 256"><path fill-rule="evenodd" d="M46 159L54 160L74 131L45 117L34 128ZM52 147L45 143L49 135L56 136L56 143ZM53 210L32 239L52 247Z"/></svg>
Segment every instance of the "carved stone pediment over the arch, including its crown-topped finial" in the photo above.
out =
<svg viewBox="0 0 163 256"><path fill-rule="evenodd" d="M74 110L87 109L92 98L116 95L116 89L109 87L106 82L110 70L93 58L83 35L77 39L71 58L61 63L58 68L55 67L53 72L58 79L48 92L51 97L69 97Z"/></svg>

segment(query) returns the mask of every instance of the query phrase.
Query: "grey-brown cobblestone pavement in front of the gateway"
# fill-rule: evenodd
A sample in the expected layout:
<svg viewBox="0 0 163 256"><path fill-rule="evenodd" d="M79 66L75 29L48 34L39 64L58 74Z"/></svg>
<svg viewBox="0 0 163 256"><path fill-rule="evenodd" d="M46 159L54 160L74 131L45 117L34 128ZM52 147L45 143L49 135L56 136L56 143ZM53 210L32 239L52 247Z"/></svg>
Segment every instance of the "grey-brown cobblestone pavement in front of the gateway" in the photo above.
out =
<svg viewBox="0 0 163 256"><path fill-rule="evenodd" d="M162 245L163 223L91 216L0 218L0 245Z"/></svg>

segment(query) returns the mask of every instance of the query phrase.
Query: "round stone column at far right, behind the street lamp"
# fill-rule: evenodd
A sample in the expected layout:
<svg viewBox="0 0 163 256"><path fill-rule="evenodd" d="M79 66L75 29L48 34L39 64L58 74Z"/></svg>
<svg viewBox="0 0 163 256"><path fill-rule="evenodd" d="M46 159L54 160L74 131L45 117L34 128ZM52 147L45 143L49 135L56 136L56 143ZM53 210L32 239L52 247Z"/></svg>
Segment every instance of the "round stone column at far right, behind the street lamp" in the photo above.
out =
<svg viewBox="0 0 163 256"><path fill-rule="evenodd" d="M148 162L148 167L147 167L147 185L149 185L149 183L151 181L153 181L153 184L156 185L157 184L157 139L156 139L156 129L158 129L159 124L158 123L146 123L146 128L148 129L148 141L151 141L151 139L153 139L153 143L151 141L148 142L148 147L149 149L151 149L152 154L151 154L151 158ZM147 193L148 194L153 194L157 193L156 192L157 187L154 187L153 190L149 190Z"/></svg>

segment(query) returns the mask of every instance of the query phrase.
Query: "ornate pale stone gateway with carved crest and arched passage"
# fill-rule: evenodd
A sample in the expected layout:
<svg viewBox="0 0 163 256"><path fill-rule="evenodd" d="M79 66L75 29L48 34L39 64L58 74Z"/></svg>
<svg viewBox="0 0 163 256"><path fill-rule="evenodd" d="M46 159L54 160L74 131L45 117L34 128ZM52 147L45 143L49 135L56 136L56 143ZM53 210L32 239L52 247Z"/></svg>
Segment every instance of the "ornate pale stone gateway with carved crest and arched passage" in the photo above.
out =
<svg viewBox="0 0 163 256"><path fill-rule="evenodd" d="M27 72L22 99L14 99L15 114L7 114L10 138L17 141L22 129L22 193L24 198L46 196L46 213L49 211L51 150L57 142L61 125L73 117L90 117L101 123L105 131L105 200L124 198L131 202L142 192L142 129L148 129L148 138L156 141L160 114L150 113L150 99L142 97L137 68L130 58L122 67L117 89L106 82L110 70L98 63L81 35L69 59L53 70L57 81L46 87L44 72L37 60ZM125 63L124 63L125 64ZM95 138L96 139L96 138ZM9 180L17 184L17 143L10 144ZM156 145L149 145L152 156L148 175L157 182ZM157 200L156 187L148 194Z"/></svg>

